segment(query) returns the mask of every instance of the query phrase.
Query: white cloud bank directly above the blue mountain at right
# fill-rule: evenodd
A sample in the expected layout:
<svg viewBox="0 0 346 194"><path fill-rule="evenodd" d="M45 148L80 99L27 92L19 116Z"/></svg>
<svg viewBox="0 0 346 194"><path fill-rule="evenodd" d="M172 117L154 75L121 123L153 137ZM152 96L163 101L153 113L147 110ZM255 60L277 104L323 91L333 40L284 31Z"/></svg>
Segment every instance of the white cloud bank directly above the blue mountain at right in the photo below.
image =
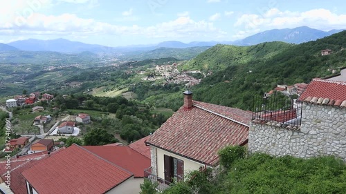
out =
<svg viewBox="0 0 346 194"><path fill-rule="evenodd" d="M309 26L320 30L345 29L346 14L336 14L326 9L308 10L305 12L281 11L270 9L263 14L242 14L234 24L241 29L237 37L246 37L256 32L273 28L295 28Z"/></svg>

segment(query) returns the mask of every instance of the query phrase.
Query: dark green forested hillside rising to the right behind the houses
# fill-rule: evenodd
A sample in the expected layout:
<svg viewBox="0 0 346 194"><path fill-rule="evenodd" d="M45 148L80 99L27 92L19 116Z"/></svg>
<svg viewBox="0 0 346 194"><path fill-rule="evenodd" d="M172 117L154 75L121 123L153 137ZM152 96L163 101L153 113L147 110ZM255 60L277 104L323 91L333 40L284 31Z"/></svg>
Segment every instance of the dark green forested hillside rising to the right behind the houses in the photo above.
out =
<svg viewBox="0 0 346 194"><path fill-rule="evenodd" d="M339 70L346 66L346 50L341 50L346 44L346 31L300 45L285 47L283 43L274 42L255 47L265 48L266 44L273 49L257 51L263 52L258 57L243 54L237 58L234 57L235 52L225 52L231 46L218 45L192 59L189 64L200 64L193 68L205 69L203 66L208 64L210 69L217 69L221 67L221 62L218 61L225 61L222 66L226 66L224 70L215 71L192 88L194 98L213 104L250 109L253 95L263 95L276 84L309 83L314 77L327 77L332 75L332 69ZM284 48L279 49L282 46ZM320 51L327 48L333 50L333 53L321 56ZM246 48L239 47L239 50L244 52ZM251 50L247 52L251 53Z"/></svg>

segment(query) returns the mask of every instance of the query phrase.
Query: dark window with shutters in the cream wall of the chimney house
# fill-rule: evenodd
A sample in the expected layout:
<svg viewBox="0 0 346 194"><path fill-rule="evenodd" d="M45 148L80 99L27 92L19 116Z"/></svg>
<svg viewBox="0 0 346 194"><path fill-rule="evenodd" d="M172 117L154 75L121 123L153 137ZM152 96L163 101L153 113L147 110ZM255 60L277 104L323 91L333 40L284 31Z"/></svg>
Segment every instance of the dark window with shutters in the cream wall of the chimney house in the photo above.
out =
<svg viewBox="0 0 346 194"><path fill-rule="evenodd" d="M165 181L169 184L173 180L181 181L184 178L184 162L172 156L164 155Z"/></svg>

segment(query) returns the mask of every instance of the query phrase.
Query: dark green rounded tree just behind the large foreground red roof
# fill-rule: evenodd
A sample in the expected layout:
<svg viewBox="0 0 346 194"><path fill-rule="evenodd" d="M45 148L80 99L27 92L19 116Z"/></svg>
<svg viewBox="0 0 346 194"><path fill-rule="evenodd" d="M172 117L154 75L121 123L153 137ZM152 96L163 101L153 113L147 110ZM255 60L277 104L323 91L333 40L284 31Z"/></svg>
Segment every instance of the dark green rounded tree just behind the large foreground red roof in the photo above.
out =
<svg viewBox="0 0 346 194"><path fill-rule="evenodd" d="M84 135L84 145L86 146L102 146L116 142L119 142L119 140L104 128L94 128Z"/></svg>

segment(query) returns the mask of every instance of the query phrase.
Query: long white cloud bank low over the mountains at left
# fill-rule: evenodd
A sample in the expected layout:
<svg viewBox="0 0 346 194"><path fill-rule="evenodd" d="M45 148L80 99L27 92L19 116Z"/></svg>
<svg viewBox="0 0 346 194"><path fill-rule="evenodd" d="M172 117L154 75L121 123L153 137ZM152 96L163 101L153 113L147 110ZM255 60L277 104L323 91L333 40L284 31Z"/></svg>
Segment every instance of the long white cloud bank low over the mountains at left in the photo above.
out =
<svg viewBox="0 0 346 194"><path fill-rule="evenodd" d="M120 26L111 23L82 19L75 14L59 16L33 14L32 17L17 23L1 23L0 36L78 36L89 35L140 35L141 37L222 37L226 32L215 28L207 21L194 21L190 17L178 17L175 20L158 23L154 26Z"/></svg>

